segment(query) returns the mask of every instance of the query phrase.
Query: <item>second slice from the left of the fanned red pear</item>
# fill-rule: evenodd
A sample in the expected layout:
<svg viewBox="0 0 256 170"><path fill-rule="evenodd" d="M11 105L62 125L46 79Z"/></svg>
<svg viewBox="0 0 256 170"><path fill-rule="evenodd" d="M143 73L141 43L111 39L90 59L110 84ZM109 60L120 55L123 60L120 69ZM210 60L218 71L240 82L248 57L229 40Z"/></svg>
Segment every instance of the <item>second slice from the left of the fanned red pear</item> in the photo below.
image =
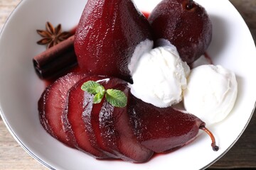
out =
<svg viewBox="0 0 256 170"><path fill-rule="evenodd" d="M85 77L70 89L63 122L68 136L77 144L75 145L76 148L97 159L106 159L110 156L99 149L95 132L92 130L90 123L91 113L97 112L99 114L100 109L97 109L97 107L101 108L102 103L94 104L93 96L81 89L82 84L86 81L97 81L99 79L103 78L99 76Z"/></svg>

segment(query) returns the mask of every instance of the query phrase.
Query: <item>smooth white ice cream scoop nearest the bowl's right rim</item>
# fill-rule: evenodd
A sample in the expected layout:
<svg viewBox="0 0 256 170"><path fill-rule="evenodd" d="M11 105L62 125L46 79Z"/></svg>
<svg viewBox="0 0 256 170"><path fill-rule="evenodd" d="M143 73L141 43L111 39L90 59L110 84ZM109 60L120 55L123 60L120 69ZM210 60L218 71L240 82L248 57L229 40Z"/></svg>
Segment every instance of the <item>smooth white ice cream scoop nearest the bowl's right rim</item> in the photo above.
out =
<svg viewBox="0 0 256 170"><path fill-rule="evenodd" d="M183 91L186 111L206 124L218 123L232 110L238 93L235 74L220 65L202 65L191 70Z"/></svg>

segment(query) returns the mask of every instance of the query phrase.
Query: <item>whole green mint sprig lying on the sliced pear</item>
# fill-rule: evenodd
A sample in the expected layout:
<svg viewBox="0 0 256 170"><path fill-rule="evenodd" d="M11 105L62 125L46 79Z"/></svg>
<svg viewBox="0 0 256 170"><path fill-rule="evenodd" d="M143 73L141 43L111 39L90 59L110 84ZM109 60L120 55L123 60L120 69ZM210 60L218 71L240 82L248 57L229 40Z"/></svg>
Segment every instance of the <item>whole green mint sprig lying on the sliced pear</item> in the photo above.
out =
<svg viewBox="0 0 256 170"><path fill-rule="evenodd" d="M123 108L127 105L127 96L124 92L117 89L107 89L96 81L86 81L81 86L82 91L95 95L93 103L100 103L105 96L108 103L117 108Z"/></svg>

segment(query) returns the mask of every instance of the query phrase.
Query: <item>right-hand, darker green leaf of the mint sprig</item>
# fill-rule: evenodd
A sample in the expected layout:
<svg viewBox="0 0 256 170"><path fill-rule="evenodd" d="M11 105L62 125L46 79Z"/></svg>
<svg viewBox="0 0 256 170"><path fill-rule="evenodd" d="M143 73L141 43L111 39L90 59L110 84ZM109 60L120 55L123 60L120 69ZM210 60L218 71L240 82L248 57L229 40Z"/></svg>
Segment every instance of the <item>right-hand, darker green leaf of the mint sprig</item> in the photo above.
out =
<svg viewBox="0 0 256 170"><path fill-rule="evenodd" d="M106 99L107 102L117 108L127 105L127 96L125 96L124 92L116 89L107 89Z"/></svg>

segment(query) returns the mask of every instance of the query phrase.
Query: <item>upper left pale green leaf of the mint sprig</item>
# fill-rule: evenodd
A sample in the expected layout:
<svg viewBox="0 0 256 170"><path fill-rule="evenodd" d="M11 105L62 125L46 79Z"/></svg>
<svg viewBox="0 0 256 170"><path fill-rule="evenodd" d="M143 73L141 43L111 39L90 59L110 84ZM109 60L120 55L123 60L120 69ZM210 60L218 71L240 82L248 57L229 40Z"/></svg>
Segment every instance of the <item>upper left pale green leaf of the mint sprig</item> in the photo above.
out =
<svg viewBox="0 0 256 170"><path fill-rule="evenodd" d="M84 84L82 84L81 89L83 91L87 91L89 94L96 95L97 93L105 94L104 86L97 83L96 81L86 81Z"/></svg>

